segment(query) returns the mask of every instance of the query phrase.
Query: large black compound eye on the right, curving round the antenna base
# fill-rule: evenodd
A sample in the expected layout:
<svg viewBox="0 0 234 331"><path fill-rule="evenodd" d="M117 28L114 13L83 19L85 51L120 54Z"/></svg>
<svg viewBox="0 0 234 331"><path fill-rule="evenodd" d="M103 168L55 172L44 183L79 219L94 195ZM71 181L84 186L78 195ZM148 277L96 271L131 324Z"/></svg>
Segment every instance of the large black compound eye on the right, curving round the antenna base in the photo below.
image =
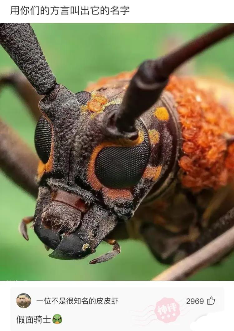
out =
<svg viewBox="0 0 234 331"><path fill-rule="evenodd" d="M104 147L97 155L95 174L106 187L114 189L135 186L142 177L149 160L149 140L144 125L144 138L135 146Z"/></svg>

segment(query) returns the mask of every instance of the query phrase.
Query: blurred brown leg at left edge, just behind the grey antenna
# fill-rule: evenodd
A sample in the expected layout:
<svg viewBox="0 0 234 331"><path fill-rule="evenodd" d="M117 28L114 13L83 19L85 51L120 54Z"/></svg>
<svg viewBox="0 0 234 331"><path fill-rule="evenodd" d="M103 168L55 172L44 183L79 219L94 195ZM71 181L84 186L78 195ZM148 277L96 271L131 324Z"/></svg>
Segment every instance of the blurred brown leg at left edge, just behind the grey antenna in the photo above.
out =
<svg viewBox="0 0 234 331"><path fill-rule="evenodd" d="M38 103L42 98L20 71L6 72L0 75L0 91L4 85L10 85L25 102L33 117L38 120L41 112Z"/></svg>

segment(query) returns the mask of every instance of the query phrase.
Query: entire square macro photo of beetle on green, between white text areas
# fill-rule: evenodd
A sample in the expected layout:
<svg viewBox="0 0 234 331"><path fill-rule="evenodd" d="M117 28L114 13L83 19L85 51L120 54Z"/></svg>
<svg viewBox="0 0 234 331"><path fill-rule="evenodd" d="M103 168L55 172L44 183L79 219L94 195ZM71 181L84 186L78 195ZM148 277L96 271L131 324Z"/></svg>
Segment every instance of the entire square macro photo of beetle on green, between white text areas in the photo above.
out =
<svg viewBox="0 0 234 331"><path fill-rule="evenodd" d="M1 280L234 280L234 24L0 24Z"/></svg>

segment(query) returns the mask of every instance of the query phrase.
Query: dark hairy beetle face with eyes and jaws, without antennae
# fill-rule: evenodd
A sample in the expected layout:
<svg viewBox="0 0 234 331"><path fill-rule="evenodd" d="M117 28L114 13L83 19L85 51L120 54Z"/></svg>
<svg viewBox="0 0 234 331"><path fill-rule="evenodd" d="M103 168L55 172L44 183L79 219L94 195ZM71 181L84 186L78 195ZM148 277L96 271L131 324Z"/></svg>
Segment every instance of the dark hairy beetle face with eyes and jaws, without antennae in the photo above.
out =
<svg viewBox="0 0 234 331"><path fill-rule="evenodd" d="M39 103L42 117L35 148L41 161L34 230L54 249L51 257L80 259L94 253L118 222L133 216L164 172L160 132L152 139L142 119L136 121L138 135L133 139L107 133L106 115L118 110L123 94L123 86L73 94L58 85ZM164 135L168 148L170 136Z"/></svg>

